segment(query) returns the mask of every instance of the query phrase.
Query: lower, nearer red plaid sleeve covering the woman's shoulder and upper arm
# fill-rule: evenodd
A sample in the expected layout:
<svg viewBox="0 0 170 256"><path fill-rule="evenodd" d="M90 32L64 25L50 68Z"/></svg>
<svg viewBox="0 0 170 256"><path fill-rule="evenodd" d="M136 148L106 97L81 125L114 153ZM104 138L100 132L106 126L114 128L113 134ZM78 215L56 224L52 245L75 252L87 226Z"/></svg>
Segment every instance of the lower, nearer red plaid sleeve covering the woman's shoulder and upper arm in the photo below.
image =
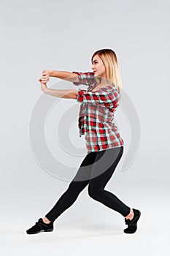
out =
<svg viewBox="0 0 170 256"><path fill-rule="evenodd" d="M117 105L119 99L119 94L116 90L108 92L106 89L100 89L99 91L79 89L77 94L77 102L103 104L107 108L113 108Z"/></svg>

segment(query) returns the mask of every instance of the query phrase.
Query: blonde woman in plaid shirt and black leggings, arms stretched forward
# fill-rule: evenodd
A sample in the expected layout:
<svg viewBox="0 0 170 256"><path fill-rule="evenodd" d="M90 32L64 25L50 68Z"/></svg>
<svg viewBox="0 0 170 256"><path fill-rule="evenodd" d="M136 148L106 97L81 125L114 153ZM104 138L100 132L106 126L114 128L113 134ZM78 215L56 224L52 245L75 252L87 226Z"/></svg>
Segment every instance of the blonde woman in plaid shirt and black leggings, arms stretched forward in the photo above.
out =
<svg viewBox="0 0 170 256"><path fill-rule="evenodd" d="M126 206L120 199L104 190L123 155L123 139L113 123L120 101L121 79L116 53L101 49L91 58L93 72L65 72L44 70L39 79L45 94L80 102L80 136L85 135L88 154L83 159L76 176L55 206L26 230L28 234L53 231L53 222L63 211L72 206L80 192L88 185L90 197L112 208L125 217L128 227L124 233L135 233L141 212ZM69 80L75 86L87 85L88 89L48 89L50 77Z"/></svg>

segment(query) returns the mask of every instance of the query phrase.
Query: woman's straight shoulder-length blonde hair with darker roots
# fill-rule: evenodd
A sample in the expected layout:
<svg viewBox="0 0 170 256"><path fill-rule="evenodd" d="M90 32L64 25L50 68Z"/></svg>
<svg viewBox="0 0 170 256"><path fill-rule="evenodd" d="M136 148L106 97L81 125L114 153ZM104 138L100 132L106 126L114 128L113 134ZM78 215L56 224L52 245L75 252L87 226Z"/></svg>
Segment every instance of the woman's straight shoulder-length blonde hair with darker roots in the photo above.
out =
<svg viewBox="0 0 170 256"><path fill-rule="evenodd" d="M109 83L115 85L117 90L120 92L122 89L122 81L120 78L120 71L115 51L111 49L96 50L96 52L93 53L93 56L91 57L92 64L93 57L96 55L98 55L101 61L103 61L104 67L106 69L107 80L109 80ZM101 82L101 78L96 77L96 81L98 83Z"/></svg>

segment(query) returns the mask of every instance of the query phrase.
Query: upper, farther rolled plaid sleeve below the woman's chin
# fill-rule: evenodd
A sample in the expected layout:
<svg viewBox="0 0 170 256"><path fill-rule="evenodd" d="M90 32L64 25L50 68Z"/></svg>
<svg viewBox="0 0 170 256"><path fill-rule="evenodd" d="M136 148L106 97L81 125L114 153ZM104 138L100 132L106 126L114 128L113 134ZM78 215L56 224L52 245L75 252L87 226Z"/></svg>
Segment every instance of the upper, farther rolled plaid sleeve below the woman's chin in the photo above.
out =
<svg viewBox="0 0 170 256"><path fill-rule="evenodd" d="M82 84L86 85L86 86L90 86L96 82L96 78L95 78L93 72L75 72L75 71L73 71L72 73L77 74L78 78L80 80L80 82L72 82L74 84L74 86L81 86Z"/></svg>

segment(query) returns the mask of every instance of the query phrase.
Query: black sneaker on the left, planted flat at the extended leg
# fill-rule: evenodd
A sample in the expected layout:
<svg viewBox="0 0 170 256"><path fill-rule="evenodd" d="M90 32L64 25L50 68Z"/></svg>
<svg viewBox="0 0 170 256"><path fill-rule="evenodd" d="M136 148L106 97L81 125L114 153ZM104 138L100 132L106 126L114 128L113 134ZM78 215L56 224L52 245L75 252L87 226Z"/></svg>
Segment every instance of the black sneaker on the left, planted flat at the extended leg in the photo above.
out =
<svg viewBox="0 0 170 256"><path fill-rule="evenodd" d="M50 232L53 231L54 227L53 227L53 222L50 222L49 224L46 224L45 222L43 222L42 218L39 219L38 222L36 222L36 224L29 228L28 230L26 230L27 234L36 234L39 232Z"/></svg>

